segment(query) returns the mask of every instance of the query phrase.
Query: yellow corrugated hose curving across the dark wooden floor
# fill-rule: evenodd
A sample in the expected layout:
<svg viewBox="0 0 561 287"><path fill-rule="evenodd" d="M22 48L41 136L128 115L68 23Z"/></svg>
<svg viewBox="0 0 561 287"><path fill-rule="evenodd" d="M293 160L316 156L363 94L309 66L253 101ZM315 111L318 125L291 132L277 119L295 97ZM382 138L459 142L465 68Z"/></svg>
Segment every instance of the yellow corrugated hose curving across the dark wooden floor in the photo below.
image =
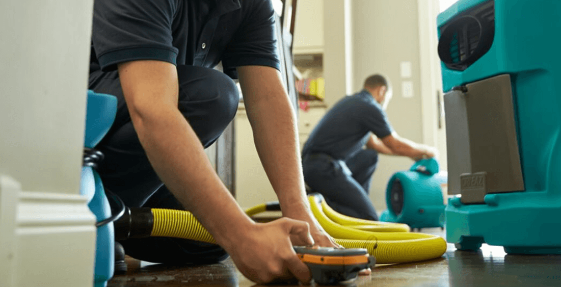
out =
<svg viewBox="0 0 561 287"><path fill-rule="evenodd" d="M436 235L409 233L409 226L352 218L335 212L321 195L310 195L310 205L320 225L345 248L366 248L377 263L403 263L438 258L446 242ZM266 210L265 204L247 209L248 215ZM192 213L153 208L151 236L165 236L216 243ZM395 232L398 231L398 232Z"/></svg>

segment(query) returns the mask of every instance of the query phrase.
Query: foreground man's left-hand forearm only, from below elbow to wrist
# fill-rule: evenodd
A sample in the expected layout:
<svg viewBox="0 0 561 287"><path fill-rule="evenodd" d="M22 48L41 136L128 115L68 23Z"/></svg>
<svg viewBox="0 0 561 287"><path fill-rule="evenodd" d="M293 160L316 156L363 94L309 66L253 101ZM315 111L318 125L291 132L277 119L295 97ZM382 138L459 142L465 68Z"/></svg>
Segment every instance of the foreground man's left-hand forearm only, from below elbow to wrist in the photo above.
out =
<svg viewBox="0 0 561 287"><path fill-rule="evenodd" d="M218 243L250 224L220 181L194 131L179 111L158 120L136 120L135 129L154 170ZM211 194L211 196L209 196Z"/></svg>

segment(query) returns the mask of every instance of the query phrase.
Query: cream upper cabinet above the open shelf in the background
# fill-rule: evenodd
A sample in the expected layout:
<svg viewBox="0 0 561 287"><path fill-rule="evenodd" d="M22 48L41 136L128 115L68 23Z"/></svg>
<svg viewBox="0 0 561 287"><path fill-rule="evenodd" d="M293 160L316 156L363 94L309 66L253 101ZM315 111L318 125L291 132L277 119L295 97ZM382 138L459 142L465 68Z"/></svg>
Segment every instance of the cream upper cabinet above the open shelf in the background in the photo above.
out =
<svg viewBox="0 0 561 287"><path fill-rule="evenodd" d="M323 53L323 2L324 0L298 1L293 53Z"/></svg>

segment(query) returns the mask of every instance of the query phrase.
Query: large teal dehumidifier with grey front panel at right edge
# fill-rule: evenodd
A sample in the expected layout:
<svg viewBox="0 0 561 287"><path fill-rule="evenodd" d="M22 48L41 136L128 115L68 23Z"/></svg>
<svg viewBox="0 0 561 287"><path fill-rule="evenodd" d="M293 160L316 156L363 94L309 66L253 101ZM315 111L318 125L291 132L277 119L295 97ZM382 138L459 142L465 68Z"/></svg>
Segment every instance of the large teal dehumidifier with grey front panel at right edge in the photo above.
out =
<svg viewBox="0 0 561 287"><path fill-rule="evenodd" d="M561 1L461 0L438 16L447 240L561 254Z"/></svg>

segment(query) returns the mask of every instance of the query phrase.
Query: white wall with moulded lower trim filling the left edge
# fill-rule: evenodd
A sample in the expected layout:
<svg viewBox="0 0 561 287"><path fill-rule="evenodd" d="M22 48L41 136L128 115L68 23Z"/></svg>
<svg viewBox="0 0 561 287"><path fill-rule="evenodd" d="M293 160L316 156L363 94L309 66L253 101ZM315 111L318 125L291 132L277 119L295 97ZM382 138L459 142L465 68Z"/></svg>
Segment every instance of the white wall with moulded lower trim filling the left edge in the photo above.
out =
<svg viewBox="0 0 561 287"><path fill-rule="evenodd" d="M93 285L95 218L78 195L92 7L0 1L2 287Z"/></svg>

